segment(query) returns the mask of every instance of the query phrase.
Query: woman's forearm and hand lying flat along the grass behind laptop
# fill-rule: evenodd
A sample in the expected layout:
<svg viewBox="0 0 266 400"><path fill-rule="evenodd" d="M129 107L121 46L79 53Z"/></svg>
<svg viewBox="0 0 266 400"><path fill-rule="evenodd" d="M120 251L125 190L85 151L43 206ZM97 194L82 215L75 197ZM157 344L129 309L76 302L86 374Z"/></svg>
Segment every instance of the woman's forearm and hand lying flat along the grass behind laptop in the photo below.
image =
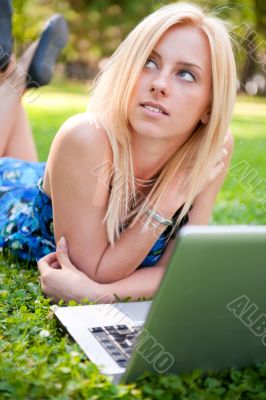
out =
<svg viewBox="0 0 266 400"><path fill-rule="evenodd" d="M87 298L90 301L110 303L117 301L116 296L121 299L128 296L132 299L149 298L154 295L161 282L174 246L175 243L172 241L162 256L159 266L141 268L120 281L100 284L71 263L67 242L61 238L56 252L38 261L41 287L47 296L56 301L63 299L80 302Z"/></svg>

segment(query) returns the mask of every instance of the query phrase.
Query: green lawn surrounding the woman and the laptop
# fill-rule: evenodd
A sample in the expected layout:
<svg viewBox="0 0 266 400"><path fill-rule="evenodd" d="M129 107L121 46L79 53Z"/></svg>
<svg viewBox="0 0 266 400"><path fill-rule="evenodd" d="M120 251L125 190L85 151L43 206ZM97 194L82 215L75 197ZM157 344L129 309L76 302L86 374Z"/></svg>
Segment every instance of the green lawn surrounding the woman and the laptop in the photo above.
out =
<svg viewBox="0 0 266 400"><path fill-rule="evenodd" d="M26 102L41 160L60 124L86 109L85 85L53 84ZM235 152L212 223L266 224L266 99L239 98ZM203 377L146 376L114 386L61 330L35 266L0 260L0 399L266 399L266 364Z"/></svg>

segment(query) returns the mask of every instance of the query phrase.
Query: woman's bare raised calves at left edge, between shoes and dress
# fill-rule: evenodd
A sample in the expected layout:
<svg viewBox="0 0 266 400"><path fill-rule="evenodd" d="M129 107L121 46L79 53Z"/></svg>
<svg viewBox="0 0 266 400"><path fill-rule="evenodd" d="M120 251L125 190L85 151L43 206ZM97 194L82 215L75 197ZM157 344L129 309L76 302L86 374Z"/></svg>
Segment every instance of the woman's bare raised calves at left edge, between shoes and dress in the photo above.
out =
<svg viewBox="0 0 266 400"><path fill-rule="evenodd" d="M37 161L37 151L21 98L25 91L26 74L37 46L34 43L17 64L11 62L0 74L0 157L9 156Z"/></svg>

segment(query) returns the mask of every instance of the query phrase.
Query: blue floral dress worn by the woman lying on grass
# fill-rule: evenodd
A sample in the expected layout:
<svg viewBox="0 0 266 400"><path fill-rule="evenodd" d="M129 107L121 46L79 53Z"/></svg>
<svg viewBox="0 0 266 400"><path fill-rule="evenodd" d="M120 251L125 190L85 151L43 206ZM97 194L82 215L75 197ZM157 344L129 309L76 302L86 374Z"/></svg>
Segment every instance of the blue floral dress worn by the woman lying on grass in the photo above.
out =
<svg viewBox="0 0 266 400"><path fill-rule="evenodd" d="M44 169L44 162L0 158L0 249L23 260L36 261L55 251L52 202L42 189ZM177 230L187 222L185 216ZM176 231L167 228L140 267L155 265Z"/></svg>

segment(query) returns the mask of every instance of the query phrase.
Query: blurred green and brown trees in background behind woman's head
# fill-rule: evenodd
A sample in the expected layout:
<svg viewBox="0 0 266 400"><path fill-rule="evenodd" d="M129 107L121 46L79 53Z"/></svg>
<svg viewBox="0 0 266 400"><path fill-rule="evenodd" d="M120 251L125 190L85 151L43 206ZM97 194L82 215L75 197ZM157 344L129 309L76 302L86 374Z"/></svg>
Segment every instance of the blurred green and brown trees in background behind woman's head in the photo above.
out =
<svg viewBox="0 0 266 400"><path fill-rule="evenodd" d="M171 2L166 0L164 4ZM152 0L13 0L13 3L17 53L38 37L42 23L49 16L62 13L71 34L61 60L66 62L69 75L80 77L95 73L98 62L110 56L143 17L162 5ZM266 69L265 0L199 0L199 4L232 23L241 82L263 65Z"/></svg>

